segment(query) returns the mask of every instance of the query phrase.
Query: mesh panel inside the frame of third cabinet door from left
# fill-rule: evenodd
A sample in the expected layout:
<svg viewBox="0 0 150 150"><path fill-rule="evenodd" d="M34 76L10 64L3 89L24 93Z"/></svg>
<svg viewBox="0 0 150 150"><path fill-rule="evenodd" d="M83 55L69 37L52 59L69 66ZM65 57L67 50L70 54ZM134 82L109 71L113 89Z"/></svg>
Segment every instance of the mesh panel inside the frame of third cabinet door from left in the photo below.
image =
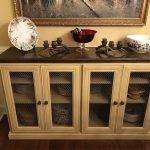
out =
<svg viewBox="0 0 150 150"><path fill-rule="evenodd" d="M91 72L89 127L109 127L113 72Z"/></svg>

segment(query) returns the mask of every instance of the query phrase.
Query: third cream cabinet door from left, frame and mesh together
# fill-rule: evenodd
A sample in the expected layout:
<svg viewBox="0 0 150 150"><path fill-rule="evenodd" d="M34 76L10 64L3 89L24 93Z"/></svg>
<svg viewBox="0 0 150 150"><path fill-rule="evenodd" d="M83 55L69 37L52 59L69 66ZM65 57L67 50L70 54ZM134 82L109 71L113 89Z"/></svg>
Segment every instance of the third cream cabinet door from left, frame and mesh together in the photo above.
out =
<svg viewBox="0 0 150 150"><path fill-rule="evenodd" d="M113 133L115 127L121 66L84 65L82 130Z"/></svg>

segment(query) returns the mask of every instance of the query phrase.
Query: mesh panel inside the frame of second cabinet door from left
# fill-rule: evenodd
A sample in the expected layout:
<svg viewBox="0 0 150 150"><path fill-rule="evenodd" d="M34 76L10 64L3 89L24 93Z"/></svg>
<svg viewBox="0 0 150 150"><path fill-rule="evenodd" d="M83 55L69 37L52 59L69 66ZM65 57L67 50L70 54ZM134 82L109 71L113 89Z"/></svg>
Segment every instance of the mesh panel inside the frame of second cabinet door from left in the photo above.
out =
<svg viewBox="0 0 150 150"><path fill-rule="evenodd" d="M51 110L53 127L72 127L72 73L50 72Z"/></svg>

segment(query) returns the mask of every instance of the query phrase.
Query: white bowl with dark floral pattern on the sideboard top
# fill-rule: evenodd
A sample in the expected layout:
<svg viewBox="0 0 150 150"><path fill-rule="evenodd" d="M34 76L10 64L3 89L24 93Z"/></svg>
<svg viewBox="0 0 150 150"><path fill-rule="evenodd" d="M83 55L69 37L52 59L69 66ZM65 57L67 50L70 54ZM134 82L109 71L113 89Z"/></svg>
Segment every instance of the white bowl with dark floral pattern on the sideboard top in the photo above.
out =
<svg viewBox="0 0 150 150"><path fill-rule="evenodd" d="M150 35L128 35L128 47L136 53L147 53L150 51Z"/></svg>

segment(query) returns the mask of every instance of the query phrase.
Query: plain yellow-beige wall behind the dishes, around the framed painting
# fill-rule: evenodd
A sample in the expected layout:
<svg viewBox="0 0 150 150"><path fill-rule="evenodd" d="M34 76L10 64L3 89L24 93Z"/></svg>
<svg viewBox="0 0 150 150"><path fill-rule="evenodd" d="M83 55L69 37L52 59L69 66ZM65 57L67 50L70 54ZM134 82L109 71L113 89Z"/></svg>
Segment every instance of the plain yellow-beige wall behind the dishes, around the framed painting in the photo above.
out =
<svg viewBox="0 0 150 150"><path fill-rule="evenodd" d="M0 46L10 46L11 43L7 37L7 27L9 22L15 17L13 0L0 0ZM43 40L55 40L57 37L62 37L65 44L75 46L72 40L70 30L75 27L38 27L40 39L38 46L42 46ZM86 27L84 27L86 28ZM148 20L146 26L141 27L87 27L98 31L93 42L88 46L99 45L102 37L109 40L122 40L128 34L150 34L150 11L148 13Z"/></svg>

